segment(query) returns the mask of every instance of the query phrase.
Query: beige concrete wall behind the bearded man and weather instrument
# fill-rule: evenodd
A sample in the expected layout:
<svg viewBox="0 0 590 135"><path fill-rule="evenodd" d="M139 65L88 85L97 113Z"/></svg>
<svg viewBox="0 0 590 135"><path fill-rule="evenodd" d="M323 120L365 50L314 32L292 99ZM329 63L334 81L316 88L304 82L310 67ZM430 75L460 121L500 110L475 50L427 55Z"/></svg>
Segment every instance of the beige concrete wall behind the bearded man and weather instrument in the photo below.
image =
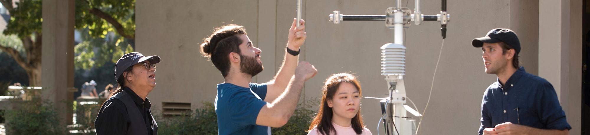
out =
<svg viewBox="0 0 590 135"><path fill-rule="evenodd" d="M300 60L309 61L319 71L306 83L304 97L319 100L326 77L341 72L359 76L363 96L385 97L379 47L393 42L393 31L384 22L335 25L327 21L327 16L334 10L345 15L382 15L386 8L395 6L394 1L304 0L303 4L308 38ZM414 1L407 5L413 9ZM425 15L440 11L440 1L422 1L421 6ZM477 132L481 97L496 76L484 72L481 50L471 46L471 39L484 36L490 29L516 31L523 48L522 65L535 75L543 72L539 57L552 55L539 52L540 7L538 1L448 1L451 22L420 134ZM294 9L294 1L137 1L136 50L162 58L156 76L158 86L148 96L154 108L161 109L162 102L192 103L193 108L201 106L202 101L214 102L215 86L224 80L199 54L198 45L213 28L228 23L244 25L254 45L263 50L265 70L253 82L270 80L283 59ZM440 23L412 25L406 34L407 94L422 111L441 48ZM378 100L363 99L362 104L365 125L376 134L381 116Z"/></svg>

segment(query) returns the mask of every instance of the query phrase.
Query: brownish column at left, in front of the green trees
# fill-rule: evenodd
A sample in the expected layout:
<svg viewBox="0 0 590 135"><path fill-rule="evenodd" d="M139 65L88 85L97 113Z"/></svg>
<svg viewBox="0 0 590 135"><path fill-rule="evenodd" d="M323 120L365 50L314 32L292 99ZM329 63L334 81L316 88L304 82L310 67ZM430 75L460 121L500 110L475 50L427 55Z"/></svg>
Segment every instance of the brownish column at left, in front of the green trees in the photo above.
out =
<svg viewBox="0 0 590 135"><path fill-rule="evenodd" d="M43 1L42 99L57 107L61 123L71 122L68 87L74 86L74 0ZM71 113L69 113L71 114Z"/></svg>

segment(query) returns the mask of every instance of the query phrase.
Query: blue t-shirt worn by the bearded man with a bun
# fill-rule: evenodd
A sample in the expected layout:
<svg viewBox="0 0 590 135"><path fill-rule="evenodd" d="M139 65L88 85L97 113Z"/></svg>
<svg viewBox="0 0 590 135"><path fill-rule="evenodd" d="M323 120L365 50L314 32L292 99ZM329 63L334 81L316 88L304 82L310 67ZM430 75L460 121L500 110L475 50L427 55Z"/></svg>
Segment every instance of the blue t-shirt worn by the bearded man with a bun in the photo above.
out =
<svg viewBox="0 0 590 135"><path fill-rule="evenodd" d="M266 102L267 85L250 83L241 87L231 83L217 85L215 113L219 134L268 134L270 127L256 125Z"/></svg>

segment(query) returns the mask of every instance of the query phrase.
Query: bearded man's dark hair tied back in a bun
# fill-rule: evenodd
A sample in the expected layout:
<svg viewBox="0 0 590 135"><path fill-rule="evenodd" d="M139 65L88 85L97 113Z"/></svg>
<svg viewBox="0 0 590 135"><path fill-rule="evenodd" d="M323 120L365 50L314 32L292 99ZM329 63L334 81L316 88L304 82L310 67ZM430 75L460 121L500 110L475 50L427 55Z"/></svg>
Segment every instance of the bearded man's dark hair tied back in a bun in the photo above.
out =
<svg viewBox="0 0 590 135"><path fill-rule="evenodd" d="M201 44L201 55L211 59L213 65L221 71L223 77L230 72L230 56L231 52L240 53L240 44L242 40L238 35L247 35L244 26L230 24L215 28L208 38L203 40Z"/></svg>

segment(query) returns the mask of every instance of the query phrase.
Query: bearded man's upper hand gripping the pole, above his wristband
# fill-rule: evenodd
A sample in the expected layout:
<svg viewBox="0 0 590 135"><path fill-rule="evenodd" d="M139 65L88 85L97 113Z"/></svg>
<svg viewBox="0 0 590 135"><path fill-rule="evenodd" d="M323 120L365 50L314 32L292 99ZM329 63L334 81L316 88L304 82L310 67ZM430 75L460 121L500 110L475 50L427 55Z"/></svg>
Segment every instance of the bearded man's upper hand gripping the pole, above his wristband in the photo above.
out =
<svg viewBox="0 0 590 135"><path fill-rule="evenodd" d="M289 28L289 41L287 41L287 48L291 50L299 50L299 47L303 45L305 39L307 38L305 32L305 21L301 19L300 21L296 21L296 18L293 18L293 24L291 28ZM297 27L297 23L299 22L300 25Z"/></svg>

